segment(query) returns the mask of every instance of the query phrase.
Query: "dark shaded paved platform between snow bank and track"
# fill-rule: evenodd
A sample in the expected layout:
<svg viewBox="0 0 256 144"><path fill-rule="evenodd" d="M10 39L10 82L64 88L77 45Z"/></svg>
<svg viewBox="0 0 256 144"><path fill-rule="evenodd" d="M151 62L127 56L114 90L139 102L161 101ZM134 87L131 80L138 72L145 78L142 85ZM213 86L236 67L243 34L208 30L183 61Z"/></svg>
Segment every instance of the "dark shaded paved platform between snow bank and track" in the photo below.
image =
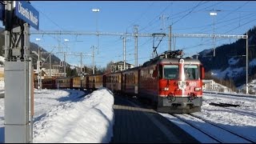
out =
<svg viewBox="0 0 256 144"><path fill-rule="evenodd" d="M162 115L130 99L114 96L114 136L110 143L198 143Z"/></svg>

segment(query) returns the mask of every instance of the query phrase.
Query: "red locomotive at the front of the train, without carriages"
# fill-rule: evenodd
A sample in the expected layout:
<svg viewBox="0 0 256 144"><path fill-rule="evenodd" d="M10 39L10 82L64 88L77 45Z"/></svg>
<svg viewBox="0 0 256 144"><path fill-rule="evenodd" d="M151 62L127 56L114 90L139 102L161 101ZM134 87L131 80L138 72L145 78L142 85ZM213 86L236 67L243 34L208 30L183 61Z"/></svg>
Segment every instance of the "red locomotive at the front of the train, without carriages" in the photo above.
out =
<svg viewBox="0 0 256 144"><path fill-rule="evenodd" d="M150 98L158 111L190 113L202 106L204 69L198 59L178 58L168 52L144 63L139 70L138 96Z"/></svg>

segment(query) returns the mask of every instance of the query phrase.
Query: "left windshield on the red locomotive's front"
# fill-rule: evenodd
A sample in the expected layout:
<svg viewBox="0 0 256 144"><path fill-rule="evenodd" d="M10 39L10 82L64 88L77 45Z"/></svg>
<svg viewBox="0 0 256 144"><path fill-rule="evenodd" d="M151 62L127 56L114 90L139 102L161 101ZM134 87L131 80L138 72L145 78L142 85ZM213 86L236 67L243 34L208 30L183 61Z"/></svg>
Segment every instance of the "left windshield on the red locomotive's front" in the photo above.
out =
<svg viewBox="0 0 256 144"><path fill-rule="evenodd" d="M178 65L164 65L163 72L165 79L178 79Z"/></svg>

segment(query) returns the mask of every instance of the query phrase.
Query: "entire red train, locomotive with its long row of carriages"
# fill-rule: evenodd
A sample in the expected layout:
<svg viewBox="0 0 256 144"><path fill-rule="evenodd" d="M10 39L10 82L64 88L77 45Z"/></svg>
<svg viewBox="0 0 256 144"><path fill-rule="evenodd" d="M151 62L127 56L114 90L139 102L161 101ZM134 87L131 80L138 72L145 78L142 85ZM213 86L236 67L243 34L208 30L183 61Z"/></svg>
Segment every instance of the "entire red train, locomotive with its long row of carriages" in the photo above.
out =
<svg viewBox="0 0 256 144"><path fill-rule="evenodd" d="M142 66L109 74L42 80L42 88L97 90L148 99L164 113L192 113L201 110L204 67L198 59L182 58L182 50L166 51ZM35 81L35 87L38 85Z"/></svg>

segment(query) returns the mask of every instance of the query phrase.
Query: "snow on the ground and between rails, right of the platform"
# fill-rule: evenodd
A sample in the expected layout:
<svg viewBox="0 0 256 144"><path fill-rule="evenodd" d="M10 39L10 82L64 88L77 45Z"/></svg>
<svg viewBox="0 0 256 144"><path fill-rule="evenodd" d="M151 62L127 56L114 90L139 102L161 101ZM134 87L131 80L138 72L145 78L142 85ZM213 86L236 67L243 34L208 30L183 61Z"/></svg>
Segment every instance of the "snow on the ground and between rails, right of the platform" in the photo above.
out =
<svg viewBox="0 0 256 144"><path fill-rule="evenodd" d="M220 107L211 106L210 102L214 103L229 103L239 105L238 107ZM201 112L194 113L198 117L204 118L210 122L218 123L228 130L235 131L238 134L246 136L256 142L256 96L255 98L238 98L234 96L225 96L219 94L203 94L202 110ZM162 114L166 118L169 116ZM170 118L169 118L170 119ZM174 120L174 118L172 118ZM176 121L176 122L175 122ZM196 121L190 119L191 122L197 124ZM202 143L212 143L209 139L202 139L202 136L191 130L190 126L184 126L179 123L178 120L174 120L174 123L183 130L186 130L194 138L197 138ZM203 125L201 123L200 125ZM214 133L222 135L220 131ZM234 142L234 139L226 138L227 142ZM240 143L240 142L239 142Z"/></svg>

